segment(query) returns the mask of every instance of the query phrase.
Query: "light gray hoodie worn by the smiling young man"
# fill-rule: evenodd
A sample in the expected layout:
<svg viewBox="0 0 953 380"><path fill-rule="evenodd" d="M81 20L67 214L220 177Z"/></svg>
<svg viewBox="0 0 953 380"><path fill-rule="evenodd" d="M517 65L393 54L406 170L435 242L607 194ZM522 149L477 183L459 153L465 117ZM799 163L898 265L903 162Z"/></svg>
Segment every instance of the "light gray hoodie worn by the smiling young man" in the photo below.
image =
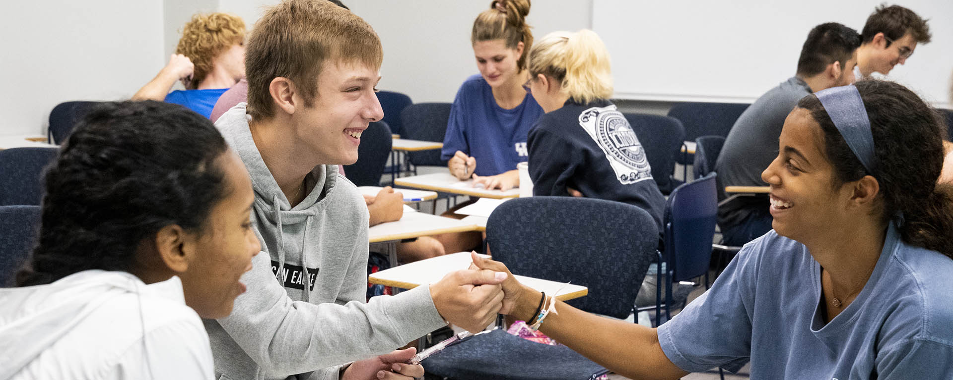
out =
<svg viewBox="0 0 953 380"><path fill-rule="evenodd" d="M445 326L428 287L364 303L368 211L360 192L335 166L322 165L311 172L314 190L291 208L254 145L248 117L240 103L215 123L252 176L263 251L242 276L248 292L232 315L205 321L216 376L337 379L339 368L329 366Z"/></svg>

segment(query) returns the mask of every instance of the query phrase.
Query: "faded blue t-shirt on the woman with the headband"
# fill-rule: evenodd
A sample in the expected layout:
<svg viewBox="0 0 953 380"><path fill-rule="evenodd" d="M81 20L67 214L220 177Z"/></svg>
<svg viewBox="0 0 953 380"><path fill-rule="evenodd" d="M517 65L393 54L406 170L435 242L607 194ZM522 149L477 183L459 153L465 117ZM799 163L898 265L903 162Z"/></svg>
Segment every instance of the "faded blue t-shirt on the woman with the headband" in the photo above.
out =
<svg viewBox="0 0 953 380"><path fill-rule="evenodd" d="M953 260L909 246L891 224L860 294L827 323L821 266L774 230L744 246L715 285L659 327L682 370L752 379L940 379L953 373Z"/></svg>

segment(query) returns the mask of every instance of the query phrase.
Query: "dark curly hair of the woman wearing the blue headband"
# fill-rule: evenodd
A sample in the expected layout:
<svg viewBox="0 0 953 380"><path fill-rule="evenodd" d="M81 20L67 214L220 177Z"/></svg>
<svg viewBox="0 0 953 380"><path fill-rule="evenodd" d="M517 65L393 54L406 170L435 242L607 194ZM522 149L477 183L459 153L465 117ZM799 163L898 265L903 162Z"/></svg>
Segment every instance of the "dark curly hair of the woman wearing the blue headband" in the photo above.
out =
<svg viewBox="0 0 953 380"><path fill-rule="evenodd" d="M874 173L883 197L883 219L903 212L903 241L953 258L953 186L938 184L945 127L938 113L911 90L893 82L855 84L874 136ZM821 101L807 95L798 107L811 112L824 135L835 186L868 174L847 147Z"/></svg>

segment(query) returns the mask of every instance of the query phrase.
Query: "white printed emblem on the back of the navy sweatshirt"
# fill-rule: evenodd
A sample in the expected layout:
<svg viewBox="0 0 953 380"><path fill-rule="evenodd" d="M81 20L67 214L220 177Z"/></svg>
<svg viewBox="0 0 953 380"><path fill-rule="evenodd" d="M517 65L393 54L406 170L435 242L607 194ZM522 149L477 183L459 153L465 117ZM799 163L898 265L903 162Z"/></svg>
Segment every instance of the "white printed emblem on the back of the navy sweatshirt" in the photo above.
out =
<svg viewBox="0 0 953 380"><path fill-rule="evenodd" d="M593 107L579 114L579 126L596 140L622 185L652 179L652 168L636 132L616 106Z"/></svg>

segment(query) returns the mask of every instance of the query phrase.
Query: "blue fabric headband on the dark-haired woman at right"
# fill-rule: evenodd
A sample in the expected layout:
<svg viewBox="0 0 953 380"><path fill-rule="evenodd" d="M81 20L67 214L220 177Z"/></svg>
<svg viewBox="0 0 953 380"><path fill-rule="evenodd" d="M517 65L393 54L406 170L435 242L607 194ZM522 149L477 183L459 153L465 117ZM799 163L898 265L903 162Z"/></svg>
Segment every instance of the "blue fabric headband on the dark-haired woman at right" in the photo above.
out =
<svg viewBox="0 0 953 380"><path fill-rule="evenodd" d="M843 140L850 150L861 160L868 174L874 170L874 135L870 131L870 120L863 107L861 93L854 85L821 90L817 93L821 106L841 132Z"/></svg>

